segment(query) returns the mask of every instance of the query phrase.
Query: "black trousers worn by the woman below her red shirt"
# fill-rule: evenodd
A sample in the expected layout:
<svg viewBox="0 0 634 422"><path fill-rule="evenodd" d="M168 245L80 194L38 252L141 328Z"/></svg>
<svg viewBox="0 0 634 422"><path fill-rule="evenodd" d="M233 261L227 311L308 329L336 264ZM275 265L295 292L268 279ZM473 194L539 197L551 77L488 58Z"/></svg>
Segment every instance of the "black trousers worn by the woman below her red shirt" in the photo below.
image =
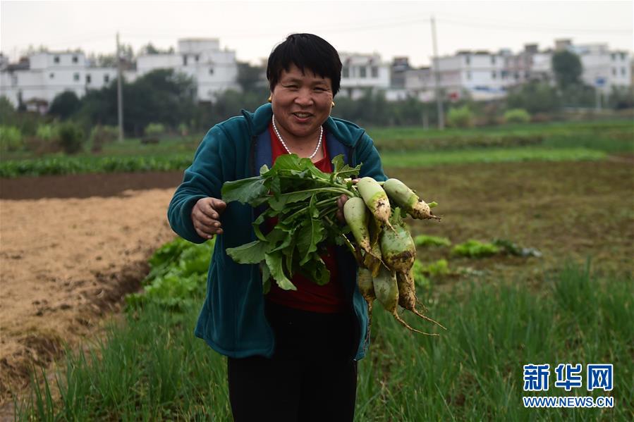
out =
<svg viewBox="0 0 634 422"><path fill-rule="evenodd" d="M352 421L357 363L352 359L354 316L317 314L267 302L275 334L271 358L228 358L233 419Z"/></svg>

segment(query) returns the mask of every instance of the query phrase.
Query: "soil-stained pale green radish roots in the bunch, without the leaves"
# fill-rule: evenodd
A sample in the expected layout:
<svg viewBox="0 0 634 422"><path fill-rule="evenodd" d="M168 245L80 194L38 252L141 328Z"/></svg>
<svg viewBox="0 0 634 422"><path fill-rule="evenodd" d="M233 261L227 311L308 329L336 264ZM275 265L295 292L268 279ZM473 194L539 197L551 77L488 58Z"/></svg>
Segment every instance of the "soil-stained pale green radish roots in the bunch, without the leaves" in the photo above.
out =
<svg viewBox="0 0 634 422"><path fill-rule="evenodd" d="M403 321L398 306L442 327L417 309L412 270L416 246L402 215L439 220L431 211L436 203L425 203L398 179L381 183L362 178L356 188L360 196L346 201L343 215L355 239L356 244L350 247L359 263L358 285L368 313L372 315L372 304L378 299L396 321L410 330L422 333Z"/></svg>

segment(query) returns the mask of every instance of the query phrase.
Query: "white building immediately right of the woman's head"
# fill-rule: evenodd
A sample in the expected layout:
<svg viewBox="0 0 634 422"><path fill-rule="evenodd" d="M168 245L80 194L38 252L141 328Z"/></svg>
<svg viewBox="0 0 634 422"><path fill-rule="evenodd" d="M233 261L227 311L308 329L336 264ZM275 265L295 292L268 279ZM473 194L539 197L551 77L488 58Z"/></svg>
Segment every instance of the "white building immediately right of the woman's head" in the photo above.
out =
<svg viewBox="0 0 634 422"><path fill-rule="evenodd" d="M343 65L341 95L358 99L367 89L389 89L390 64L382 62L379 54L339 53L339 57Z"/></svg>

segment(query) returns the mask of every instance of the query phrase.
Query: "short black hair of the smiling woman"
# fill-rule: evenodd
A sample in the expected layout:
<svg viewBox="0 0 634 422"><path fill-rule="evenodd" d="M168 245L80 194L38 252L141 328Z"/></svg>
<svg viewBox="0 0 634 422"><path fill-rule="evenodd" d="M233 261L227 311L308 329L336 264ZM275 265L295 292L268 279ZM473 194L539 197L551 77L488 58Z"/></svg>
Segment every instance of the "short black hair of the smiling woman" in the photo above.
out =
<svg viewBox="0 0 634 422"><path fill-rule="evenodd" d="M308 69L315 75L329 77L333 97L339 92L341 59L334 46L322 37L312 34L291 34L273 49L267 64L267 80L271 91L279 82L282 70L288 72L293 63L302 72Z"/></svg>

